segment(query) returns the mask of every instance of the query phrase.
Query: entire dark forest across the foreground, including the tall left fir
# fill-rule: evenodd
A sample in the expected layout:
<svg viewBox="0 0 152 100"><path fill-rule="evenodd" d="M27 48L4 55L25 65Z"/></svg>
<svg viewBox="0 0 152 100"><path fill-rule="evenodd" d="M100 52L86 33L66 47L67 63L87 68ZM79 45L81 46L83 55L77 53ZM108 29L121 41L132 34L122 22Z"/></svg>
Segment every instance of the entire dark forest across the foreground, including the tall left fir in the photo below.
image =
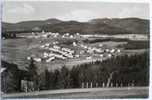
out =
<svg viewBox="0 0 152 100"><path fill-rule="evenodd" d="M2 68L6 66L8 69L1 73L4 86L2 90L6 93L21 92L19 85L23 79L33 81L35 90L149 86L148 52L85 63L73 66L71 69L66 66L53 71L46 69L41 74L37 73L34 60L30 61L27 71L24 72L19 71L16 65L3 61ZM16 66L17 71L12 70L13 66Z"/></svg>

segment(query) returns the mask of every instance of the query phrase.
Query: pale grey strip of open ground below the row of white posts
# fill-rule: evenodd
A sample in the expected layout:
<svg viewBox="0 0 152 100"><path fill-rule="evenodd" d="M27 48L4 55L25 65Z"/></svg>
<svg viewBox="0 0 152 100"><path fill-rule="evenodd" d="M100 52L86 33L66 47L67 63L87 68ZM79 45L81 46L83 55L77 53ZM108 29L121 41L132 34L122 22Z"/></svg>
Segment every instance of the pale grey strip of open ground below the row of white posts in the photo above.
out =
<svg viewBox="0 0 152 100"><path fill-rule="evenodd" d="M101 99L101 98L148 98L148 87L84 88L47 90L41 92L2 95L3 98L51 98L51 99Z"/></svg>

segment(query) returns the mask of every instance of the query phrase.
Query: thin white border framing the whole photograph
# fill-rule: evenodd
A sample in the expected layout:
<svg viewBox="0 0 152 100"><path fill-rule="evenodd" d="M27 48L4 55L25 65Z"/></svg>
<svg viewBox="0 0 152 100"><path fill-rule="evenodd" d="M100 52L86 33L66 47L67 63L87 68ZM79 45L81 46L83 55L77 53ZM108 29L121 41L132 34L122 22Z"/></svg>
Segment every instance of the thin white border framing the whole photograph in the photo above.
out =
<svg viewBox="0 0 152 100"><path fill-rule="evenodd" d="M152 0L0 0L0 21L1 21L1 18L2 18L2 2L7 2L7 1L17 1L17 2L23 2L23 1L29 1L29 2L32 2L32 1L55 1L55 2L61 2L61 1L68 1L68 2L109 2L109 3L149 3L150 4L150 66L149 66L149 69L150 69L150 72L149 73L152 73L152 68L151 68L151 64L152 64ZM1 27L1 23L0 23L0 27ZM0 29L0 32L1 32L1 29ZM1 51L1 34L0 34L0 51ZM0 52L0 55L1 55L1 52ZM1 59L1 58L0 58ZM1 65L1 62L0 62L0 65ZM152 76L150 74L150 83L152 83ZM25 98L24 98L25 99ZM39 99L42 99L42 98L39 98ZM47 98L45 98L47 99ZM149 85L149 100L152 100L152 84ZM13 100L13 99L12 99ZM15 99L14 99L15 100ZM29 99L29 100L32 100L32 99ZM38 99L37 99L38 100ZM43 100L43 99L42 99ZM58 100L58 99L55 99L55 100ZM73 99L69 99L69 100L73 100ZM78 99L80 100L80 99ZM87 100L87 99L84 99L84 100ZM97 99L95 99L97 100ZM113 100L121 100L121 99L113 99ZM127 99L123 99L123 100L127 100ZM143 99L130 99L130 100L143 100Z"/></svg>

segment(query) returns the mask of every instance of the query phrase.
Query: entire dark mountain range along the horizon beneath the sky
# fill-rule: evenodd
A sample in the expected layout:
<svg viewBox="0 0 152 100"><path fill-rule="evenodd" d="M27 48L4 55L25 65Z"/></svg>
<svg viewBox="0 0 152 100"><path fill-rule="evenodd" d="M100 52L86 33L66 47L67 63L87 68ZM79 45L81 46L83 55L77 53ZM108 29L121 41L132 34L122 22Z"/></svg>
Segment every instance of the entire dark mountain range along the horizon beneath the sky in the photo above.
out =
<svg viewBox="0 0 152 100"><path fill-rule="evenodd" d="M83 34L148 34L149 20L139 18L103 18L88 22L61 21L48 19L44 21L24 21L19 23L2 23L3 32L45 30L60 33Z"/></svg>

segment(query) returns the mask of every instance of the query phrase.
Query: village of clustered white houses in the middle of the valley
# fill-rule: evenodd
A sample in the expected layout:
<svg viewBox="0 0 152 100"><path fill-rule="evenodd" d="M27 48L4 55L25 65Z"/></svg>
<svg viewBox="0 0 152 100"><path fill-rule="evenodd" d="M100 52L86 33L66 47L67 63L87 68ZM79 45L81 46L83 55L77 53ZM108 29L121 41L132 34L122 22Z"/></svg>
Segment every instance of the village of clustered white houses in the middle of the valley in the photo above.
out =
<svg viewBox="0 0 152 100"><path fill-rule="evenodd" d="M104 60L111 58L112 56L117 56L121 53L121 49L116 47L108 47L99 43L95 46L84 43L82 40L84 37L80 33L75 33L71 35L70 33L65 33L60 35L59 33L44 32L34 33L27 36L27 38L39 39L40 45L37 49L41 50L41 53L37 55L32 54L27 57L27 60L33 58L36 62L50 63L55 60L63 61L77 61L77 60ZM52 41L47 41L52 40ZM61 40L61 41L60 41ZM71 44L62 43L62 40L72 40ZM73 41L76 40L76 41ZM46 42L47 41L47 42Z"/></svg>

